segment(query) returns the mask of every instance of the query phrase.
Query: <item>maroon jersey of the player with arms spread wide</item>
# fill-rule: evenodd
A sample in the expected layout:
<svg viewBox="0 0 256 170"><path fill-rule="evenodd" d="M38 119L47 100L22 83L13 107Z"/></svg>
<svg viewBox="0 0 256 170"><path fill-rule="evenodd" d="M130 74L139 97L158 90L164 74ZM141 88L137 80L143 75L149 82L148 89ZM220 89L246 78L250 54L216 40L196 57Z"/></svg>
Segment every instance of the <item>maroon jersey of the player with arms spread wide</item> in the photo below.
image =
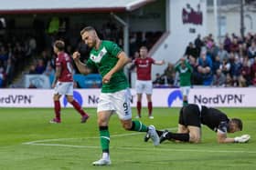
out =
<svg viewBox="0 0 256 170"><path fill-rule="evenodd" d="M137 68L137 79L138 80L151 80L151 67L155 64L155 60L151 57L136 58L134 65Z"/></svg>

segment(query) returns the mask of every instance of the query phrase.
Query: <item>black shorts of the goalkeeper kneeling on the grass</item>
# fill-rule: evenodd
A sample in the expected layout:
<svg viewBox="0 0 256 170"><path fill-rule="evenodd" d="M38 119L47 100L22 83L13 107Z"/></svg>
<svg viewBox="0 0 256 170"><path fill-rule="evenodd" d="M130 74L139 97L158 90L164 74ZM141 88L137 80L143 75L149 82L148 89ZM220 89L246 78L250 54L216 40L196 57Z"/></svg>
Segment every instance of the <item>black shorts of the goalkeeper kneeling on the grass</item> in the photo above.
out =
<svg viewBox="0 0 256 170"><path fill-rule="evenodd" d="M178 124L201 127L201 113L197 105L187 105L180 109Z"/></svg>

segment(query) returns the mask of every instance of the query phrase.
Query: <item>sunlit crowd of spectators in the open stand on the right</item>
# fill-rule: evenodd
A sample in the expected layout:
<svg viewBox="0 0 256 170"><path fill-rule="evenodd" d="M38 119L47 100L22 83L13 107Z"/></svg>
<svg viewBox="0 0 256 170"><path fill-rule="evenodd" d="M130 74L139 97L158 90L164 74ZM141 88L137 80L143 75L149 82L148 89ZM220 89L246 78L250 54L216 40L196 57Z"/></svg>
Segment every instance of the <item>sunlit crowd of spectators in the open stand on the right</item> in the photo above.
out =
<svg viewBox="0 0 256 170"><path fill-rule="evenodd" d="M219 44L212 35L197 35L184 56L193 67L192 85L256 86L256 35L227 34ZM157 74L154 84L178 85L175 64L169 63L164 74Z"/></svg>

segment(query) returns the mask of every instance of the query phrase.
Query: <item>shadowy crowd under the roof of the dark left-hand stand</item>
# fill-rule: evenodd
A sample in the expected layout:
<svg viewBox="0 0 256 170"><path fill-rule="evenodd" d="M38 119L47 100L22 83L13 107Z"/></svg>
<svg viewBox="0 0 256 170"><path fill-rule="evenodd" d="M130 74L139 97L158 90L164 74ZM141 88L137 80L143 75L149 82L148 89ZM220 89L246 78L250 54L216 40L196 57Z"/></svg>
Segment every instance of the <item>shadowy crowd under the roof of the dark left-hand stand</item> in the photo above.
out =
<svg viewBox="0 0 256 170"><path fill-rule="evenodd" d="M66 43L65 51L72 55L74 51L79 51L81 60L88 59L90 50L80 39L80 36L71 36L61 26L53 29L49 26L46 30L41 30L35 24L37 31L31 34L15 34L12 30L8 34L0 35L0 87L11 85L22 75L48 75L50 79L55 75L55 56L52 45L57 39ZM67 29L67 28L66 28ZM123 29L111 20L96 28L101 39L116 42L123 46ZM25 33L25 30L23 30ZM79 33L78 33L79 35ZM130 36L130 54L136 55L136 51L141 45L151 48L157 39L162 35L160 32L134 32ZM75 73L78 73L75 67ZM94 73L98 73L97 70ZM21 76L19 76L21 75ZM80 85L78 85L80 86ZM29 85L35 88L35 85Z"/></svg>

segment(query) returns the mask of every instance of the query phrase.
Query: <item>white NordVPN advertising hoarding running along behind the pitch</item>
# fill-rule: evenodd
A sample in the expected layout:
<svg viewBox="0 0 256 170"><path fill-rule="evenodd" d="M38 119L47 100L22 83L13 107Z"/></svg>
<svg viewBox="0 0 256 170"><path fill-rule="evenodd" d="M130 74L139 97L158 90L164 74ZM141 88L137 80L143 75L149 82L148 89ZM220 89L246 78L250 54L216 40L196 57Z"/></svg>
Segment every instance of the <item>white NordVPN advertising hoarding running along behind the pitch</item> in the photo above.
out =
<svg viewBox="0 0 256 170"><path fill-rule="evenodd" d="M96 107L100 89L75 89L74 98L83 107ZM136 92L131 89L131 103L136 106ZM48 89L1 89L0 107L53 107L53 91ZM188 102L216 107L256 107L256 88L193 88ZM154 89L155 107L180 107L182 94L178 88ZM60 98L63 107L70 107L65 97ZM147 106L143 95L143 106Z"/></svg>

